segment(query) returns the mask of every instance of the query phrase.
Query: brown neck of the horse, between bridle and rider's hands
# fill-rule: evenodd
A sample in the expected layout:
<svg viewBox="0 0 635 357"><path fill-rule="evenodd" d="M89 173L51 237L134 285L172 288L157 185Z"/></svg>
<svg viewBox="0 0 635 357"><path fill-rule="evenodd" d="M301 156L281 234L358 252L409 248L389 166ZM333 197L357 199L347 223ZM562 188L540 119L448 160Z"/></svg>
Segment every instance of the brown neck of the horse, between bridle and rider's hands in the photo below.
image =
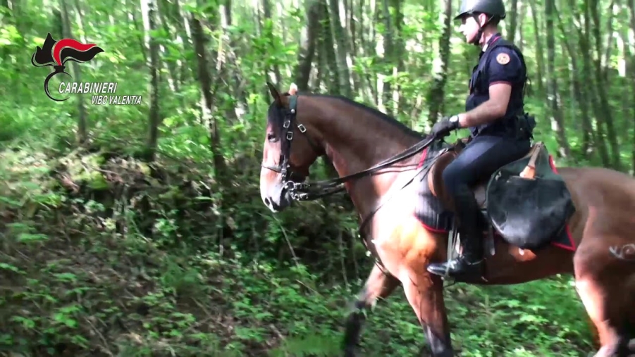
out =
<svg viewBox="0 0 635 357"><path fill-rule="evenodd" d="M304 110L312 113L311 125L320 133L326 155L340 177L371 168L421 140L375 113L346 101L329 97L309 98L312 100L306 101ZM298 113L301 112L299 108ZM412 166L402 167L412 165L417 158L414 156L381 169L379 174L347 182L345 187L359 214L364 216L372 211L397 175L403 170L412 170Z"/></svg>

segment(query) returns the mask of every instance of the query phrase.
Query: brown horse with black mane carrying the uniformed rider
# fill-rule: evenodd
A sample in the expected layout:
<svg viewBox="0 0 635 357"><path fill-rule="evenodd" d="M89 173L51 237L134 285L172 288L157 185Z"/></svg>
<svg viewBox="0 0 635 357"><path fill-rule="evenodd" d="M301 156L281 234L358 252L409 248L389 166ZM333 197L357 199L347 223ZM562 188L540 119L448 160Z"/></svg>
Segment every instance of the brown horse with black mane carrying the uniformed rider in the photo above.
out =
<svg viewBox="0 0 635 357"><path fill-rule="evenodd" d="M355 303L358 310L347 319L345 356L355 356L364 320L362 309L386 298L399 284L424 328L432 355L453 356L443 279L428 273L426 266L455 253L455 234L448 234L453 226L448 226L443 214L432 213L441 212L438 202L451 206L435 177L461 146L438 144L435 138L426 138L388 115L342 97L297 95L293 87L290 93L280 94L272 84L267 85L273 103L260 175L265 205L278 212L294 200L345 190L362 218L364 243L377 261ZM524 163L536 175L534 179L529 175L526 182L542 184L535 177L549 175L536 164L536 157L545 152L534 145L528 153L529 161ZM304 182L309 167L323 155L331 159L340 177ZM635 338L635 215L629 213L635 211L635 180L604 168L557 171L552 178L560 177L566 183L574 206L574 213L566 217L565 239L552 237L536 249L519 249L508 242L509 237L490 234L485 238L490 242L486 273L469 283L517 284L572 273L597 328L601 348L596 357L628 356L635 353L635 340L629 346L629 340ZM505 201L505 195L497 198L491 193L504 186L492 182L489 187L475 188L483 208ZM494 202L484 203L483 192ZM540 204L533 208L536 215L540 214L537 208L550 208ZM513 215L516 208L507 208ZM522 211L515 214L518 217ZM449 249L448 242L452 244Z"/></svg>

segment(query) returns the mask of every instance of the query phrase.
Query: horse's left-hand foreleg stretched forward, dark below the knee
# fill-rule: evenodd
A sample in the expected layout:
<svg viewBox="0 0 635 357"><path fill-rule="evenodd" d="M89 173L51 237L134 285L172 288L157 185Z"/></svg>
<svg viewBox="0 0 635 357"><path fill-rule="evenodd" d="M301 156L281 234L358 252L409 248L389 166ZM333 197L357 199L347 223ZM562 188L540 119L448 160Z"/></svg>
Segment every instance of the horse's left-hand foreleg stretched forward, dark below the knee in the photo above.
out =
<svg viewBox="0 0 635 357"><path fill-rule="evenodd" d="M344 356L355 356L355 348L359 344L359 337L362 334L362 327L366 320L366 311L372 308L377 299L386 299L395 291L400 284L395 277L384 274L375 265L366 279L366 284L362 291L357 294L355 309L348 315L346 320L346 330L344 334Z"/></svg>

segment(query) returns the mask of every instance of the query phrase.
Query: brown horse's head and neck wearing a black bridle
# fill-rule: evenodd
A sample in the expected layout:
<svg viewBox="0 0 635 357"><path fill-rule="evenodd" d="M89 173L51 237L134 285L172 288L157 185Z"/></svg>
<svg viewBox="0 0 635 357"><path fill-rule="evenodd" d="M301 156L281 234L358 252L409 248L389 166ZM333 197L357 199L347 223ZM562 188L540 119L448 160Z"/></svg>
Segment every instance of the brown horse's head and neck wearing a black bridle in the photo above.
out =
<svg viewBox="0 0 635 357"><path fill-rule="evenodd" d="M423 136L385 113L343 96L297 95L295 85L283 94L267 86L273 102L260 193L271 211L346 191L359 214L366 215L400 172L417 166L414 155L426 145ZM305 182L319 156L328 157L339 177Z"/></svg>

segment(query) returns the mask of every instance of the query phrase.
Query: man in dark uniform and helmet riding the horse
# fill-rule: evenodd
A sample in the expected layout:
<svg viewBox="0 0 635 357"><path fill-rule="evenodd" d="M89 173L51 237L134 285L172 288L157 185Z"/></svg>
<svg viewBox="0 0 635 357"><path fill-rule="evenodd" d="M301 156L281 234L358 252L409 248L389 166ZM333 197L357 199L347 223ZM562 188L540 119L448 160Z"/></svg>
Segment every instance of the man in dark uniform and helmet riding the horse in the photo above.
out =
<svg viewBox="0 0 635 357"><path fill-rule="evenodd" d="M437 137L463 127L471 132L467 146L443 171L445 189L452 196L460 224L463 251L448 263L429 265L428 271L436 275L445 275L446 269L455 277L480 273L486 226L470 187L522 158L531 147L535 122L524 113L526 66L521 51L498 32L498 22L504 18L503 0L462 0L455 17L461 20L459 31L467 42L481 46L482 51L469 81L466 112L443 118L432 128Z"/></svg>

